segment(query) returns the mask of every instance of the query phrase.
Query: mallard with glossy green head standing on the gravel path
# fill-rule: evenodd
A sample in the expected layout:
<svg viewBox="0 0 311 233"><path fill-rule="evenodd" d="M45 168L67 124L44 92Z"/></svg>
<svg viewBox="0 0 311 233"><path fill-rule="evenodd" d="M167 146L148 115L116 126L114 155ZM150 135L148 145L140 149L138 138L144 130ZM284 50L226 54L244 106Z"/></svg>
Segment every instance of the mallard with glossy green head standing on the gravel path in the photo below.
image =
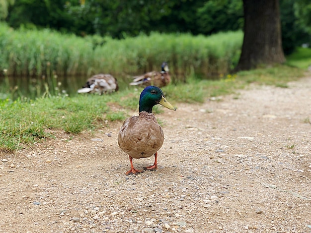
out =
<svg viewBox="0 0 311 233"><path fill-rule="evenodd" d="M143 172L133 167L133 158L140 159L155 155L154 165L144 169L151 171L157 169L157 151L164 141L162 128L152 113L153 107L157 104L176 110L167 102L160 88L146 87L139 99L139 116L129 117L123 122L118 135L118 144L130 158L131 170L126 175Z"/></svg>

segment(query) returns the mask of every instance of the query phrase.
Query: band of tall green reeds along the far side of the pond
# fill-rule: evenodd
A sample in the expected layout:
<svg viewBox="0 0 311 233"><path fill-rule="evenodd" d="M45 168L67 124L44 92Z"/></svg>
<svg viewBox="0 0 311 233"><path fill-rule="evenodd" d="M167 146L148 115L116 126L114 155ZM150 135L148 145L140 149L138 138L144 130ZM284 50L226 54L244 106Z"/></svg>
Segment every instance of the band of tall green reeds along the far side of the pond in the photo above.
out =
<svg viewBox="0 0 311 233"><path fill-rule="evenodd" d="M212 36L140 35L114 40L44 30L13 30L0 23L0 69L9 76L45 77L109 72L126 77L159 70L167 61L174 81L189 75L217 77L237 63L242 32Z"/></svg>

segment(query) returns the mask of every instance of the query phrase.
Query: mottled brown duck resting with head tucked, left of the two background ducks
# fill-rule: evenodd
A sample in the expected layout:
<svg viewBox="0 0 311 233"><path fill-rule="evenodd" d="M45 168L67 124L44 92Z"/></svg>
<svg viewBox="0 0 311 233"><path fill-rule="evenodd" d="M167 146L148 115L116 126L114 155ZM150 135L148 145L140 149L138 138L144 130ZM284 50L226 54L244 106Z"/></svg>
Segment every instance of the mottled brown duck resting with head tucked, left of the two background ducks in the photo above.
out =
<svg viewBox="0 0 311 233"><path fill-rule="evenodd" d="M111 74L96 74L87 79L78 93L95 93L102 95L119 89L117 80Z"/></svg>

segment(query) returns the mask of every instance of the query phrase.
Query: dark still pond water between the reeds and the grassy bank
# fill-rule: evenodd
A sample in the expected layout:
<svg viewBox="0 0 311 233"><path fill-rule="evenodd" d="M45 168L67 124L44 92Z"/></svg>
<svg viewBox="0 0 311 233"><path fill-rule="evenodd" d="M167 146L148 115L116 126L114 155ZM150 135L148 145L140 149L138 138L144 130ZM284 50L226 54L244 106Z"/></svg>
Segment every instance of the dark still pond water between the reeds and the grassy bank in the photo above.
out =
<svg viewBox="0 0 311 233"><path fill-rule="evenodd" d="M89 77L0 77L0 99L17 99L27 97L35 99L46 94L51 95L78 95L77 91ZM118 78L119 90L127 84L124 79Z"/></svg>

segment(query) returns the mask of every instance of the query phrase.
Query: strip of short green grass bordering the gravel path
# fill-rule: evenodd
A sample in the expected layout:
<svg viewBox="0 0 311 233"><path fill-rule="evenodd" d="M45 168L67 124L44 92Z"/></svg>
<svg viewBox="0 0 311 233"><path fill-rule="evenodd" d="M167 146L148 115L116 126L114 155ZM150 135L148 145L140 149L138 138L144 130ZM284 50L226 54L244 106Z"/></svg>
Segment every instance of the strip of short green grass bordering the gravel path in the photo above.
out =
<svg viewBox="0 0 311 233"><path fill-rule="evenodd" d="M286 85L304 75L304 70L285 65L241 71L228 74L219 80L189 78L186 84L168 85L162 88L167 101L177 108L178 103L203 103L210 97L234 93L249 83L258 85ZM112 95L77 95L75 97L49 96L29 100L0 100L0 149L14 151L19 148L53 138L49 129L79 134L84 130L103 128L109 122L124 120L127 111L138 112L142 88L128 87ZM109 106L114 106L109 107ZM163 112L154 108L155 114ZM107 122L108 121L108 122ZM161 121L160 121L161 122ZM20 144L19 142L20 137Z"/></svg>

